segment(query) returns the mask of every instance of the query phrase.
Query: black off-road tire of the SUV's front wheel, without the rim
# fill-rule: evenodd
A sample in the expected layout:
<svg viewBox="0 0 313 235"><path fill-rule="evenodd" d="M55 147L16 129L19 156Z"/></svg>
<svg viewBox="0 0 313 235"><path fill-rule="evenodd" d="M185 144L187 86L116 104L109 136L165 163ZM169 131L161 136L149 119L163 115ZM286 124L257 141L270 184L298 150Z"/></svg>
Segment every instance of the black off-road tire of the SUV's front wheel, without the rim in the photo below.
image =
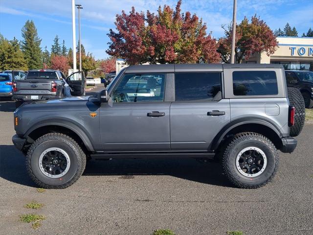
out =
<svg viewBox="0 0 313 235"><path fill-rule="evenodd" d="M68 172L61 178L49 178L40 170L38 161L45 149L58 147L67 152L70 159ZM81 147L67 135L49 133L38 138L29 148L26 155L26 169L30 178L41 188L67 188L83 174L86 166L86 155Z"/></svg>

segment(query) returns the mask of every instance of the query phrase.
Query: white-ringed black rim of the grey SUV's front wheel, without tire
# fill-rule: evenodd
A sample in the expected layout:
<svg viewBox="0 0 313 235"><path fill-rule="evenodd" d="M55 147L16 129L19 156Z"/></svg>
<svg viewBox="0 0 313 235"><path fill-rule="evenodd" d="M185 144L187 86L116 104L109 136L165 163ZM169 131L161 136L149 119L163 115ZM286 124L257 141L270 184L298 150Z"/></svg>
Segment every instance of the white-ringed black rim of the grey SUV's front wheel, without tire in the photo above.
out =
<svg viewBox="0 0 313 235"><path fill-rule="evenodd" d="M59 174L50 174L47 172L47 168L52 168L53 166L56 166L56 167L59 167L60 165L58 165L58 158L56 159L51 159L51 162L48 163L48 164L45 164L46 162L46 159L44 159L44 157L47 157L46 154L48 154L49 152L51 151L56 151L58 152L57 155L58 156L61 156L60 158L63 159L63 163L65 163L65 160L66 160L66 168L64 170L57 170L57 172L60 172ZM62 155L61 155L62 154ZM65 159L64 159L65 158ZM43 161L44 160L44 161ZM49 160L50 161L50 160ZM39 157L39 160L38 160L38 164L39 164L39 168L41 170L41 172L49 177L49 178L61 178L62 176L64 176L68 170L69 170L69 167L70 167L70 159L68 157L68 154L66 151L64 151L63 149L61 148L57 148L57 147L53 147L53 148L48 148L46 149ZM60 168L60 167L59 167Z"/></svg>

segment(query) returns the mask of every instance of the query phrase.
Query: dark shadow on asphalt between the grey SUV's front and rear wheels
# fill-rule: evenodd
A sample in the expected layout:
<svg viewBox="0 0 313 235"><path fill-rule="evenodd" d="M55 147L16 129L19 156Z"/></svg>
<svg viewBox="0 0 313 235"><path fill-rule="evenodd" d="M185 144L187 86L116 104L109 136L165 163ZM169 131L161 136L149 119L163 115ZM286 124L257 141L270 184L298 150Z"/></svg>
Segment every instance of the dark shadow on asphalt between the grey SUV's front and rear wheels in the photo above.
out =
<svg viewBox="0 0 313 235"><path fill-rule="evenodd" d="M192 158L90 160L83 175L170 175L203 184L232 187L217 162L200 163Z"/></svg>

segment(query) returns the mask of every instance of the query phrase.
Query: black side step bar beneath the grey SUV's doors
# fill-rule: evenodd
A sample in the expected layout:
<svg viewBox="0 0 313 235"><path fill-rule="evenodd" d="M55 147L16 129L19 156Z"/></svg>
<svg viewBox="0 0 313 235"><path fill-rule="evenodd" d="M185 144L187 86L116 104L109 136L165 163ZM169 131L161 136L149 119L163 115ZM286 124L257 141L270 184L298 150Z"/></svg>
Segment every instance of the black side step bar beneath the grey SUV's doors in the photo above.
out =
<svg viewBox="0 0 313 235"><path fill-rule="evenodd" d="M157 157L186 157L214 159L214 152L97 152L90 154L93 159L119 158L157 158Z"/></svg>

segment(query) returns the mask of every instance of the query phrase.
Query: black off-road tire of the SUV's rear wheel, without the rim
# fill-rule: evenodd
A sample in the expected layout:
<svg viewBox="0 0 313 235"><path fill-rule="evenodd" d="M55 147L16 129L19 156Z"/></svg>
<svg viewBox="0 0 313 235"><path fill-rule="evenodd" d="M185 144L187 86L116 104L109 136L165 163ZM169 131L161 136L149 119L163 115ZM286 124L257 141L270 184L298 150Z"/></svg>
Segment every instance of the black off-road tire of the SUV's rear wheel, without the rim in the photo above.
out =
<svg viewBox="0 0 313 235"><path fill-rule="evenodd" d="M260 148L267 158L267 166L263 173L256 177L242 175L236 167L236 157L245 147L254 146ZM278 151L275 145L265 136L243 132L236 134L224 148L222 166L224 174L229 181L238 188L259 188L266 185L275 176L278 168Z"/></svg>

